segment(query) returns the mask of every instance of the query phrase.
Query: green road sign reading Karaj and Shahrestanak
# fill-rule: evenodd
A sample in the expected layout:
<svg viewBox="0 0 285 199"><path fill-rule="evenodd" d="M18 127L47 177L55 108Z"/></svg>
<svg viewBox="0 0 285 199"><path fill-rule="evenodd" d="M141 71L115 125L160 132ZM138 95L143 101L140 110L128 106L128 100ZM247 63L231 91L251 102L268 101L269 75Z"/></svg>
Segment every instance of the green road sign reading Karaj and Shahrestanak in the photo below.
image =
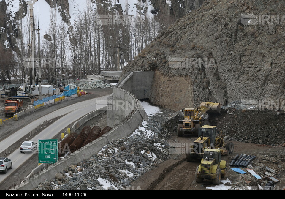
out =
<svg viewBox="0 0 285 199"><path fill-rule="evenodd" d="M38 139L39 163L55 163L58 159L57 140Z"/></svg>

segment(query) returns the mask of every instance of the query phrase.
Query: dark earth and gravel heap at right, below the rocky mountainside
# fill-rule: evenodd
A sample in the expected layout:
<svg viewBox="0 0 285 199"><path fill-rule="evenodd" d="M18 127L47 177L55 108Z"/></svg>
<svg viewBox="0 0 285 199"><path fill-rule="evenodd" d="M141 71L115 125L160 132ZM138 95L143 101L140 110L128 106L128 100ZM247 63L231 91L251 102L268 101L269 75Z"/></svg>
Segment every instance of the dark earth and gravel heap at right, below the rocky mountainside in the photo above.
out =
<svg viewBox="0 0 285 199"><path fill-rule="evenodd" d="M210 119L210 123L222 130L228 140L285 146L284 111L227 108L222 115Z"/></svg>

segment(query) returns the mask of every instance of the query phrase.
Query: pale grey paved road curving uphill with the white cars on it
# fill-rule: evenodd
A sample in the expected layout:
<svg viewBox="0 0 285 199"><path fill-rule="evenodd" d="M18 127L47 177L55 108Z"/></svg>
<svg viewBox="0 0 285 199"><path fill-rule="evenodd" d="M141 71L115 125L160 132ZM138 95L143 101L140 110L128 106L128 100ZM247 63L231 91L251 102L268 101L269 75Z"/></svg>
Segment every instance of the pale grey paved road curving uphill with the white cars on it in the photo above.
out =
<svg viewBox="0 0 285 199"><path fill-rule="evenodd" d="M100 100L100 104L96 104L96 100ZM51 139L56 136L60 131L63 130L65 126L68 124L74 123L82 116L85 116L88 113L91 113L94 110L104 107L104 102L107 104L107 95L102 97L93 98L91 100L86 100L83 102L78 102L73 105L66 106L64 108L60 108L52 113L49 113L45 116L42 116L39 119L32 121L29 125L23 127L22 129L16 131L8 138L2 140L0 142L0 152L4 149L8 148L11 143L14 143L15 140L18 140L26 133L30 132L31 129L37 127L39 124L42 124L43 121L47 119L53 119L55 117L61 116L58 120L54 121L53 124L46 127L42 132L32 138L33 141L37 143L38 139ZM35 151L34 151L35 153ZM7 171L7 174L0 175L0 183L4 181L7 177L9 177L13 171L15 171L19 167L23 167L23 162L28 160L32 154L22 154L20 153L20 148L16 149L15 152L8 156L9 159L13 162L13 167L11 170Z"/></svg>

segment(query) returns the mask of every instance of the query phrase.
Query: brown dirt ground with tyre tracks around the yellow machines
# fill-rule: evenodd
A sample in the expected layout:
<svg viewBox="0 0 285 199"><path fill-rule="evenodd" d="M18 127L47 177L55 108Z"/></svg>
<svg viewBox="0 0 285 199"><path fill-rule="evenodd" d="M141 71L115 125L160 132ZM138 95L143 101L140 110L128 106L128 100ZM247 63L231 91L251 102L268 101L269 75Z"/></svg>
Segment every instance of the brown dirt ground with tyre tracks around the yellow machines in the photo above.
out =
<svg viewBox="0 0 285 199"><path fill-rule="evenodd" d="M178 137L177 135L172 136L168 141L170 143L179 143L179 144L191 144L196 140L196 137L192 136L184 136ZM285 160L279 159L279 164L275 164L268 160L263 160L262 157L266 157L265 159L270 159L283 155L285 153L284 147L269 147L263 145L256 145L251 143L243 143L234 141L234 152L229 156L222 156L223 160L227 160L228 163L228 172L226 179L229 179L231 182L225 183L227 188L232 189L246 189L249 187L258 186L257 183L259 181L255 179L251 174L247 172L247 174L239 174L232 171L229 167L229 163L233 157L237 154L252 154L257 155L257 159L252 163L253 170L256 173L262 173L262 166L267 165L270 168L275 168L278 171L278 165L283 168L281 172L276 172L279 174L285 174L284 166ZM182 145L181 145L182 146ZM185 147L182 147L185 148ZM134 190L137 189L151 189L151 190L208 190L207 187L214 187L211 184L210 180L204 180L203 183L195 182L195 170L197 166L200 164L200 160L195 162L187 162L185 159L185 153L181 154L181 148L175 149L177 154L171 154L170 159L162 162L158 165L158 167L149 170L147 173L143 174L139 179L133 181L131 186ZM266 156L267 155L267 156ZM279 168L280 169L280 168ZM243 169L245 170L245 169ZM260 175L260 174L259 174ZM284 187L285 186L285 177L278 176L281 180L276 186ZM225 179L222 179L225 180ZM246 181L248 183L246 183ZM249 182L250 181L250 182ZM139 188L137 188L139 187ZM238 187L238 188L237 188Z"/></svg>

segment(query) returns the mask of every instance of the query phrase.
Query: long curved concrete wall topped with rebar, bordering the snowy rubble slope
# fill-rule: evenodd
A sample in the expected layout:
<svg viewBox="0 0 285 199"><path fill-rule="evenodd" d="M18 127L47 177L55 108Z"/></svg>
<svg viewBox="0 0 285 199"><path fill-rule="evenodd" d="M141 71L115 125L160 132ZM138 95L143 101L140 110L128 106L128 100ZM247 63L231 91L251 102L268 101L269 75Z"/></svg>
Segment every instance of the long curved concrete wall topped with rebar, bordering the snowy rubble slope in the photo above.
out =
<svg viewBox="0 0 285 199"><path fill-rule="evenodd" d="M39 183L45 181L45 180L51 180L54 178L55 174L63 171L64 168L67 165L74 164L76 162L80 162L82 159L89 158L91 154L98 153L103 146L105 146L107 143L110 143L112 139L118 139L122 137L126 137L132 132L134 132L142 123L143 120L147 121L148 116L145 113L145 110L143 109L140 101L134 97L131 93L124 89L115 88L115 96L119 96L120 99L123 99L124 101L132 102L132 106L134 109L129 109L126 113L129 111L128 116L124 116L120 118L122 121L121 124L116 125L113 127L113 129L106 133L105 135L101 136L100 138L94 140L93 142L83 146L79 150L75 151L74 153L68 155L64 159L61 159L60 161L56 162L55 164L51 165L46 170L40 172L39 174L36 174L32 177L31 180L28 182L22 182L20 187L15 187L15 189L18 190L31 190L34 189ZM124 99L126 97L126 99ZM111 103L111 101L110 101ZM101 110L98 110L101 111ZM122 110L118 110L118 113L120 113ZM109 112L109 111L108 111ZM88 114L90 115L90 114ZM84 118L84 117L83 117ZM80 122L77 122L79 124Z"/></svg>

